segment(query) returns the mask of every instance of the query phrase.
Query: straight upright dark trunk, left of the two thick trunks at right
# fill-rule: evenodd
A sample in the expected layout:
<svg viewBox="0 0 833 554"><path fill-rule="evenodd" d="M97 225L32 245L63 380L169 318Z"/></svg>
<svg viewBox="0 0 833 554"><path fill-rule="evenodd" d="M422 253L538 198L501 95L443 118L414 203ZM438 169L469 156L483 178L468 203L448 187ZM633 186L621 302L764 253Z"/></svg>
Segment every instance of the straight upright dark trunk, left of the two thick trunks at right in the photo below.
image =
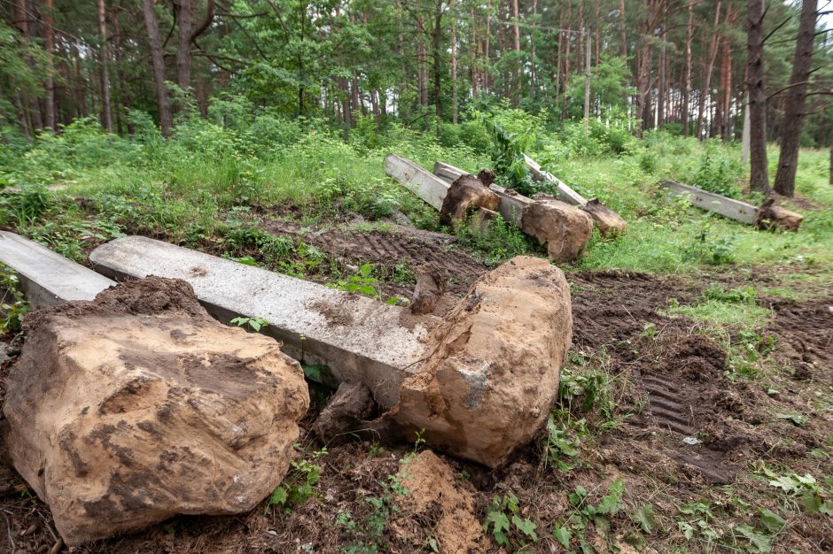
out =
<svg viewBox="0 0 833 554"><path fill-rule="evenodd" d="M750 190L769 192L767 170L767 89L764 84L764 3L748 0L746 88L749 91Z"/></svg>

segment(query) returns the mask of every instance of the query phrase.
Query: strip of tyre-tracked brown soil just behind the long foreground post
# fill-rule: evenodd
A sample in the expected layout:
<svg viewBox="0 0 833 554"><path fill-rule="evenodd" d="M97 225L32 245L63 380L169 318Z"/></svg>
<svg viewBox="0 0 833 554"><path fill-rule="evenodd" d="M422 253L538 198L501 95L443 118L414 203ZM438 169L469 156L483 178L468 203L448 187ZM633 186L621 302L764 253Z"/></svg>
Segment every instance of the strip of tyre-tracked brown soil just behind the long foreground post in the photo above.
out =
<svg viewBox="0 0 833 554"><path fill-rule="evenodd" d="M457 247L454 236L441 233L406 227L397 227L389 233L341 231L304 227L289 221L269 221L264 227L269 233L300 238L333 258L354 264L370 262L393 267L404 262L411 270L432 264L446 281L446 290L454 294L464 294L471 283L487 271L486 265ZM410 292L409 289L400 292L406 291Z"/></svg>

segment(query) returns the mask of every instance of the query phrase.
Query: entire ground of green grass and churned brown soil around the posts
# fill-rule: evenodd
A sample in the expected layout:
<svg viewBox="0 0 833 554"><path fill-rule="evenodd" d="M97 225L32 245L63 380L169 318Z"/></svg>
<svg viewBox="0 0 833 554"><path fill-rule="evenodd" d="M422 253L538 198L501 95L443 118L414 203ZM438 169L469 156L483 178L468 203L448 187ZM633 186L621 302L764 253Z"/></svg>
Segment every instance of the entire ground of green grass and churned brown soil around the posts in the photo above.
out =
<svg viewBox="0 0 833 554"><path fill-rule="evenodd" d="M559 168L630 228L615 240L594 236L585 257L563 267L573 345L551 424L499 470L442 457L473 495L480 522L502 513L533 524L510 525L505 545L487 527L489 551L833 549L833 192L823 158L802 154L798 193L806 201L790 204L806 215L802 230L771 234L666 197L658 177L690 176L663 165L669 142L646 142L619 158L568 158ZM462 147L388 146L423 165L487 165ZM684 146L694 166L697 149L712 148ZM489 267L541 254L511 228L480 238L449 234L382 176L380 151L335 141L287 149L292 161L272 160L262 173L245 166L225 185L211 173L214 162L199 157L183 159L176 172L120 162L78 169L71 179L44 176L41 184L66 189L5 194L4 224L82 263L122 234L332 286L370 263L381 300L409 297L416 267L430 262L448 282L440 313ZM641 161L646 152L659 167ZM230 186L237 189L222 196ZM17 217L23 201L34 217ZM9 351L0 394L14 361ZM434 550L439 511L403 509L391 479L423 446L317 442L308 430L327 395L311 389L314 407L297 447L304 470L287 476L289 485L312 481L302 502L177 517L74 551ZM6 467L0 491L0 550L50 551L57 537L47 506Z"/></svg>

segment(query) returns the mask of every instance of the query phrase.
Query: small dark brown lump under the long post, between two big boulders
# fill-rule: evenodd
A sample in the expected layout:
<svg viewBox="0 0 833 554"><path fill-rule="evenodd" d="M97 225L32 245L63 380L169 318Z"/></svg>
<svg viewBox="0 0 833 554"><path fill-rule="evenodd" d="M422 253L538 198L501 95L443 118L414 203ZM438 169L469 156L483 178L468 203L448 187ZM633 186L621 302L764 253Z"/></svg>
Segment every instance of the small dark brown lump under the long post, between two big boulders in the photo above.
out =
<svg viewBox="0 0 833 554"><path fill-rule="evenodd" d="M313 430L322 442L329 442L362 426L376 410L373 394L363 383L341 383L330 402L315 419Z"/></svg>

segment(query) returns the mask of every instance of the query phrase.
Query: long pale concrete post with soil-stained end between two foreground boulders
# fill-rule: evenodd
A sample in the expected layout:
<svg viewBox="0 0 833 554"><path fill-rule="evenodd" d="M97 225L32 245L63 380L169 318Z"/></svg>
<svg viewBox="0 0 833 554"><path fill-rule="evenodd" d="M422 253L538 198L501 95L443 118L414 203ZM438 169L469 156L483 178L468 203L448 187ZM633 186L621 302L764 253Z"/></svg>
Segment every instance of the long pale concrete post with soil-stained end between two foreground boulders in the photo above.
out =
<svg viewBox="0 0 833 554"><path fill-rule="evenodd" d="M187 281L222 321L266 319L263 332L284 342L287 354L329 365L336 381L367 384L385 408L399 401L402 381L423 358L425 335L439 323L407 308L144 236L102 244L90 260L115 279L156 275Z"/></svg>

